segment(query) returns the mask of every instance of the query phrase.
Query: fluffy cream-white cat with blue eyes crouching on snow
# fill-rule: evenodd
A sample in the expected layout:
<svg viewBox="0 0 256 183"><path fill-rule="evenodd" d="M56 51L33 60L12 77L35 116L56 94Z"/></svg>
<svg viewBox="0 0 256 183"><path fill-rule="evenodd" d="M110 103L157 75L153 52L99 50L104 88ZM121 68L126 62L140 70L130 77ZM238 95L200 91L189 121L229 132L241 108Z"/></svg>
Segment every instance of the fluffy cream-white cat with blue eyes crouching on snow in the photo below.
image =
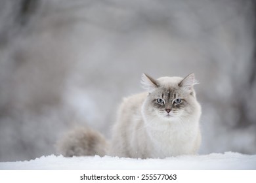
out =
<svg viewBox="0 0 256 183"><path fill-rule="evenodd" d="M197 154L201 106L194 74L185 78L142 75L144 93L123 99L107 142L93 129L76 129L59 143L64 156L166 158Z"/></svg>

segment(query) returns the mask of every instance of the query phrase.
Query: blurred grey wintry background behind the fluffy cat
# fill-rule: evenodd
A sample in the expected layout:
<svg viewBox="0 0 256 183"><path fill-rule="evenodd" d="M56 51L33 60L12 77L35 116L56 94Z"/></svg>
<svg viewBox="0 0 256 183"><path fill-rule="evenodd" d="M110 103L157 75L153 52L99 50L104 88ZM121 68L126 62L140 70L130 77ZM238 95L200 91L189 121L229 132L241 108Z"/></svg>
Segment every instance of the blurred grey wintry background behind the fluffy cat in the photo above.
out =
<svg viewBox="0 0 256 183"><path fill-rule="evenodd" d="M253 0L0 0L0 161L56 154L74 125L106 137L140 76L195 73L200 154L256 154Z"/></svg>

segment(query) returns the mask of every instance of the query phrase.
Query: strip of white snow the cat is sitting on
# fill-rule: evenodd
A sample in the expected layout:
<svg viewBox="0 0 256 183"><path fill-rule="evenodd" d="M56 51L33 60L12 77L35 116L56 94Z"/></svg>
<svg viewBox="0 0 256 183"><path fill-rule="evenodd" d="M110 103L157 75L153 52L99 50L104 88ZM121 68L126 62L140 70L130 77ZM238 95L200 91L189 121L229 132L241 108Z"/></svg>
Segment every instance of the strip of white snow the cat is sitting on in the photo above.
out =
<svg viewBox="0 0 256 183"><path fill-rule="evenodd" d="M237 152L198 156L178 156L165 159L133 159L110 156L65 158L42 156L30 161L1 162L0 169L256 169L256 155Z"/></svg>

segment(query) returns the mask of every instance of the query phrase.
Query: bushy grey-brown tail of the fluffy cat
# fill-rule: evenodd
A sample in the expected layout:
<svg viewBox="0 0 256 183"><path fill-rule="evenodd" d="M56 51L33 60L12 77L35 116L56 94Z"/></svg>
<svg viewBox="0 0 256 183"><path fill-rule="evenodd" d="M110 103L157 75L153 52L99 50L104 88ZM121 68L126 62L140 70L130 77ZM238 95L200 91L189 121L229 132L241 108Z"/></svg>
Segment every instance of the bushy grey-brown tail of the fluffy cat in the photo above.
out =
<svg viewBox="0 0 256 183"><path fill-rule="evenodd" d="M75 127L57 142L56 148L66 157L105 156L108 142L98 131L89 127Z"/></svg>

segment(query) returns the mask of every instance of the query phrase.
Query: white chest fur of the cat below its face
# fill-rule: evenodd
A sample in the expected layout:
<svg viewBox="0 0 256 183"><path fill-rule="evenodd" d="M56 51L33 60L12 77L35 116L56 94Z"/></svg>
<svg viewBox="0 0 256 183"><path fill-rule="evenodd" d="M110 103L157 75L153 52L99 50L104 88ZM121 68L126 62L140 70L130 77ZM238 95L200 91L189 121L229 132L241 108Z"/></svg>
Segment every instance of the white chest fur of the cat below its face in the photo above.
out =
<svg viewBox="0 0 256 183"><path fill-rule="evenodd" d="M148 126L146 131L152 158L195 154L199 148L200 129L191 121L158 121L154 127Z"/></svg>

